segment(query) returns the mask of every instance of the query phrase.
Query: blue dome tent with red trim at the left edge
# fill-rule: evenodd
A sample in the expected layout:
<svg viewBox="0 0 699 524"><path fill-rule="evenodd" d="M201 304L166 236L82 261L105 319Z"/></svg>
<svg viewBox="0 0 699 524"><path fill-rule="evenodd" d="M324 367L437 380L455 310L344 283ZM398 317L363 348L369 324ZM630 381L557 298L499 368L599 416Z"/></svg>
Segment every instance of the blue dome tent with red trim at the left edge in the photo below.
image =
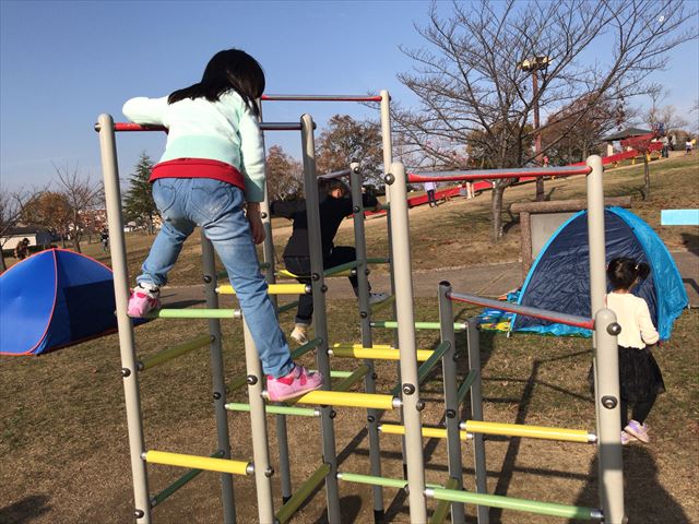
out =
<svg viewBox="0 0 699 524"><path fill-rule="evenodd" d="M37 355L116 330L111 270L50 249L0 275L0 354Z"/></svg>

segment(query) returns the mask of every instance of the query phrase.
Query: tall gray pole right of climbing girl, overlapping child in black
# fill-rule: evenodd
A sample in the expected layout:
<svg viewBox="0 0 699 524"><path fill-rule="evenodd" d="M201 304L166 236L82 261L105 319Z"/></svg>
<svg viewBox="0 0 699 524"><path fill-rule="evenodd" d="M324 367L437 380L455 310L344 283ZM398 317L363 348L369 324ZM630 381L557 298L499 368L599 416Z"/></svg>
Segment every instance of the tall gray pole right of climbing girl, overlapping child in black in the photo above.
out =
<svg viewBox="0 0 699 524"><path fill-rule="evenodd" d="M316 177L316 142L313 139L313 119L301 116L301 142L304 154L304 190L306 193L306 215L308 221L308 243L310 245L310 272L313 293L313 326L316 337L321 344L316 349L318 370L323 374L323 390L330 390L330 358L328 357L328 319L325 317L325 291L323 279L323 258L320 237L320 215L318 207L318 179ZM340 491L337 488L337 452L335 450L334 412L331 406L320 407L320 427L323 461L330 465L325 476L325 497L328 521L341 522Z"/></svg>

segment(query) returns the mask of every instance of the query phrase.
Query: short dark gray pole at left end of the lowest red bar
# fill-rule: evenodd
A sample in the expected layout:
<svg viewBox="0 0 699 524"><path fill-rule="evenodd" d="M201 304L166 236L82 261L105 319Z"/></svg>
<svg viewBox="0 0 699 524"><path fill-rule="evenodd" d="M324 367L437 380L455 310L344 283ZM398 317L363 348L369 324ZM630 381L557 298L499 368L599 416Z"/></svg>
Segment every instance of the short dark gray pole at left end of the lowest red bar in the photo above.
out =
<svg viewBox="0 0 699 524"><path fill-rule="evenodd" d="M454 313L451 300L451 284L440 282L439 324L441 341L449 343L449 349L441 357L442 382L445 388L445 415L447 418L447 452L449 455L449 476L458 480L454 489L463 489L463 463L461 461L461 428L459 421L459 384L457 383L457 337L454 336ZM451 522L465 522L462 502L451 503Z"/></svg>

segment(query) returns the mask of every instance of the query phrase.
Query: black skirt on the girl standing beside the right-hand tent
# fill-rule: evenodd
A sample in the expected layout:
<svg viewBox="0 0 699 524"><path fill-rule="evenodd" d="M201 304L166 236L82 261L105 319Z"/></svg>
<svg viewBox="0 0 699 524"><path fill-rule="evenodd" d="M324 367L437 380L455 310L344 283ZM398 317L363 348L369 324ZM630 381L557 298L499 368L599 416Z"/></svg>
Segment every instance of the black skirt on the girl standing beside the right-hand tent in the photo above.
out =
<svg viewBox="0 0 699 524"><path fill-rule="evenodd" d="M588 373L590 391L594 394L592 366ZM647 402L665 392L665 382L660 366L651 349L619 346L619 395L635 404Z"/></svg>

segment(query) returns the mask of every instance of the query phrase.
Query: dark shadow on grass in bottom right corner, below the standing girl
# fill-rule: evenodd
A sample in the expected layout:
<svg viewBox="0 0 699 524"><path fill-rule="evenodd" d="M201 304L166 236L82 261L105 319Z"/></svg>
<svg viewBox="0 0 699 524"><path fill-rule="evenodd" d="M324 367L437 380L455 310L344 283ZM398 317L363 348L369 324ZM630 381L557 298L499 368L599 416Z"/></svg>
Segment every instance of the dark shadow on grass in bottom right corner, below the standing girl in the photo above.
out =
<svg viewBox="0 0 699 524"><path fill-rule="evenodd" d="M597 460L590 464L589 481L578 495L576 505L599 508ZM657 478L657 465L640 443L624 448L624 505L629 522L690 522L682 505L663 488ZM569 524L582 521L570 520Z"/></svg>

